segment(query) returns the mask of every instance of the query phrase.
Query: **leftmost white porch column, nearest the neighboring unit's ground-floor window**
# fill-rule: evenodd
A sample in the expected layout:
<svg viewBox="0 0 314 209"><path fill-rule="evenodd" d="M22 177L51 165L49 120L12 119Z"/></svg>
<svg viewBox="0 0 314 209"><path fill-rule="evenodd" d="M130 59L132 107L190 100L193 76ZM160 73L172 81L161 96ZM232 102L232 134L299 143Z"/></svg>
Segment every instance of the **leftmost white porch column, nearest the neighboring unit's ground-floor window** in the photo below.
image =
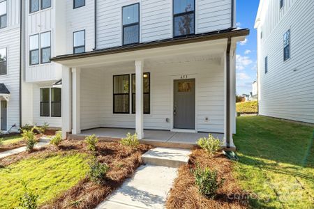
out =
<svg viewBox="0 0 314 209"><path fill-rule="evenodd" d="M72 75L70 68L62 66L62 88L61 88L61 114L62 114L62 138L66 139L66 134L72 128Z"/></svg>

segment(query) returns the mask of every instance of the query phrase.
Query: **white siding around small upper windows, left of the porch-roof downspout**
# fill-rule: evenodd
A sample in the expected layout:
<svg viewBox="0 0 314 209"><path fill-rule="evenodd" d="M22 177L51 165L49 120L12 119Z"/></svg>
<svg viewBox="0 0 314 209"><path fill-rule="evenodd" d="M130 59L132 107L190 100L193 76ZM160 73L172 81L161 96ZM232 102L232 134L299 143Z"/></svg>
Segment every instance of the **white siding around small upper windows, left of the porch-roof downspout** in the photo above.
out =
<svg viewBox="0 0 314 209"><path fill-rule="evenodd" d="M64 0L63 0L64 1ZM85 30L85 50L94 49L94 0L73 9L73 0L66 0L66 54L73 54L73 32Z"/></svg>

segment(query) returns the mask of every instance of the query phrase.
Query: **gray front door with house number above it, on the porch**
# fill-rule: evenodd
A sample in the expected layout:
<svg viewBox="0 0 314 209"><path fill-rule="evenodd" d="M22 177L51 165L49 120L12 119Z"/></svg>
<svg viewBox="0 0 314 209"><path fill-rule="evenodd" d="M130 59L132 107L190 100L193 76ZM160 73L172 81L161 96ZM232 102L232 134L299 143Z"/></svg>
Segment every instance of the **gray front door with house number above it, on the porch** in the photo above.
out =
<svg viewBox="0 0 314 209"><path fill-rule="evenodd" d="M174 80L174 128L195 129L195 79Z"/></svg>

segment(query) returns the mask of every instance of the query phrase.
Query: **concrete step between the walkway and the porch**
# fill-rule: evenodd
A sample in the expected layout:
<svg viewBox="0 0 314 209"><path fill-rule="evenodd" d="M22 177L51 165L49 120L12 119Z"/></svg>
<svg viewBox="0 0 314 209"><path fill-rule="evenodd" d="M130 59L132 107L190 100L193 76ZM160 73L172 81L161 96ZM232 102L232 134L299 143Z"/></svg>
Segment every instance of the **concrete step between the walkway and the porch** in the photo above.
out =
<svg viewBox="0 0 314 209"><path fill-rule="evenodd" d="M190 150L158 147L144 153L142 161L144 164L178 168L188 163L188 155Z"/></svg>

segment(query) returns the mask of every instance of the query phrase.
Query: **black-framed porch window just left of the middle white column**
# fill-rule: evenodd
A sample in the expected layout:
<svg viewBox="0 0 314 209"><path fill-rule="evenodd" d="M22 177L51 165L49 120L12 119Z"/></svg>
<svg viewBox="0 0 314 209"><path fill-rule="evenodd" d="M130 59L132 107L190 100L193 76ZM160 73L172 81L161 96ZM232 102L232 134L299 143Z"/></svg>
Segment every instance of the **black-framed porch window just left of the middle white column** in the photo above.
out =
<svg viewBox="0 0 314 209"><path fill-rule="evenodd" d="M130 113L130 75L114 75L113 107L114 114Z"/></svg>

